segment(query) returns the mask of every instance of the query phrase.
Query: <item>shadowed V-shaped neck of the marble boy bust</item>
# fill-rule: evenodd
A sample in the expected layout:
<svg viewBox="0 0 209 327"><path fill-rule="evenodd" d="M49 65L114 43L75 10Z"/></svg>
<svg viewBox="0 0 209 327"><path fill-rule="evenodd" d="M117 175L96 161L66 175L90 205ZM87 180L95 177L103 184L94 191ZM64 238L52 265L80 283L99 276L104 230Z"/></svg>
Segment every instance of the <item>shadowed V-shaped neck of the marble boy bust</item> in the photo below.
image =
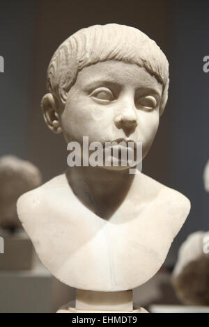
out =
<svg viewBox="0 0 209 327"><path fill-rule="evenodd" d="M101 167L70 167L66 177L72 191L86 207L102 218L109 218L121 205L134 181L129 170Z"/></svg>

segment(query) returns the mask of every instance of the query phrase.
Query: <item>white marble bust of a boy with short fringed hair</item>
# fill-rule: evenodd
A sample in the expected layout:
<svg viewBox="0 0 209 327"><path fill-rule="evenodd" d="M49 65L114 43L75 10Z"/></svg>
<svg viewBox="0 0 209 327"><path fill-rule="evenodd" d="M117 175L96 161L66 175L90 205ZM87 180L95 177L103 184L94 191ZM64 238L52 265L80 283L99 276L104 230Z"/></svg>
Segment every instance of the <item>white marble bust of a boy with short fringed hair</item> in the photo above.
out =
<svg viewBox="0 0 209 327"><path fill-rule="evenodd" d="M42 113L67 143L142 142L167 103L169 63L141 31L118 24L77 31L52 56ZM124 292L162 266L189 214L183 194L126 167L74 166L17 202L52 274L83 291Z"/></svg>

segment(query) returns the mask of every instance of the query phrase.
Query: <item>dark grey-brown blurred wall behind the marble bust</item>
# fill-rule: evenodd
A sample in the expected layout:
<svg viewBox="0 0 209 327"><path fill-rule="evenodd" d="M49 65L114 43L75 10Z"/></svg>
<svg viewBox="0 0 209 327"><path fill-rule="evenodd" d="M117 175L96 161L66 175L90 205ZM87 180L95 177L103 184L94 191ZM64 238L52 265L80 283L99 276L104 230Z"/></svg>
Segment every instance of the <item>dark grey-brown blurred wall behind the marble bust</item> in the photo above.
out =
<svg viewBox="0 0 209 327"><path fill-rule="evenodd" d="M203 168L209 158L208 1L0 1L0 155L29 159L44 181L66 167L67 150L61 135L47 129L40 111L47 65L69 35L93 24L116 22L134 26L157 44L170 64L167 108L143 171L185 194L192 209L173 241L167 264L176 261L187 234L209 229L208 194Z"/></svg>

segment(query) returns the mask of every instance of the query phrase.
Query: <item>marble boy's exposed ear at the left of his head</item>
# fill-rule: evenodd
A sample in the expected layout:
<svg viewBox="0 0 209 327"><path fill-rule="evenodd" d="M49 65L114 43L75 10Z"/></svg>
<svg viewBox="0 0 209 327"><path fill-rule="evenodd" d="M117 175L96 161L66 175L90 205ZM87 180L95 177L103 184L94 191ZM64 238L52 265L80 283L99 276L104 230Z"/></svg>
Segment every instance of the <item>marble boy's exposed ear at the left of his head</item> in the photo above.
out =
<svg viewBox="0 0 209 327"><path fill-rule="evenodd" d="M62 129L59 122L59 115L57 113L56 101L52 93L47 93L42 97L41 109L49 129L56 134L61 133Z"/></svg>

